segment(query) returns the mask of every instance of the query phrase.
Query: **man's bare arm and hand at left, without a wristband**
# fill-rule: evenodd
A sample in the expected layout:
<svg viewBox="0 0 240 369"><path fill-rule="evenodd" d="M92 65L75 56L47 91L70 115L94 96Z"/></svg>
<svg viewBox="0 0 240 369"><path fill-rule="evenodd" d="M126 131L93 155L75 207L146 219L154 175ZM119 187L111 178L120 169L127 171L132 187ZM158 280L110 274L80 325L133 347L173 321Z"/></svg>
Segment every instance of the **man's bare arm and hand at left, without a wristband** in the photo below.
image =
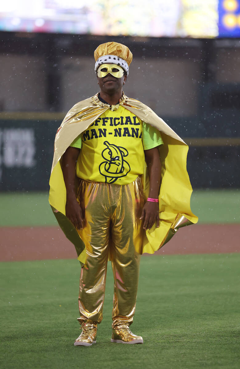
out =
<svg viewBox="0 0 240 369"><path fill-rule="evenodd" d="M83 211L76 200L76 161L79 150L76 147L69 146L62 156L62 173L66 186L66 217L72 222L75 228L83 228Z"/></svg>

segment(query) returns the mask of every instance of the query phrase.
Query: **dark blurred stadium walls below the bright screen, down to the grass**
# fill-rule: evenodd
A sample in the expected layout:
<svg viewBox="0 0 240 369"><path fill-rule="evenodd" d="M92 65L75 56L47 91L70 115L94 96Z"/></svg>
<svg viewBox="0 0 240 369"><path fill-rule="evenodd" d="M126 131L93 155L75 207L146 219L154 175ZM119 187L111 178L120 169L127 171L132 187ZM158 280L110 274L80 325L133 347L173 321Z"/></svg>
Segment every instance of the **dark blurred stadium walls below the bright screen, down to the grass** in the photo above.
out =
<svg viewBox="0 0 240 369"><path fill-rule="evenodd" d="M108 41L133 52L126 95L190 145L193 188L240 188L238 39L0 35L0 191L48 190L63 112L97 92L93 52Z"/></svg>

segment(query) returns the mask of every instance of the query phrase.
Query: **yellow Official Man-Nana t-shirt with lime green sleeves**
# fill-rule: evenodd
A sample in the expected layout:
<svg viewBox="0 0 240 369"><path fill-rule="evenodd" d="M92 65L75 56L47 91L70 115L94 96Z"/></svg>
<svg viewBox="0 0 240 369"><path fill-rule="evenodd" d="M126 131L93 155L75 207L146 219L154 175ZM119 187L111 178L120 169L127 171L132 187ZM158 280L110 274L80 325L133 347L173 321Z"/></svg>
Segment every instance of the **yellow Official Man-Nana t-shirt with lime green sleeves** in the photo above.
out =
<svg viewBox="0 0 240 369"><path fill-rule="evenodd" d="M108 109L71 144L80 148L76 175L91 182L129 184L144 170L144 150L163 144L160 132L119 105Z"/></svg>

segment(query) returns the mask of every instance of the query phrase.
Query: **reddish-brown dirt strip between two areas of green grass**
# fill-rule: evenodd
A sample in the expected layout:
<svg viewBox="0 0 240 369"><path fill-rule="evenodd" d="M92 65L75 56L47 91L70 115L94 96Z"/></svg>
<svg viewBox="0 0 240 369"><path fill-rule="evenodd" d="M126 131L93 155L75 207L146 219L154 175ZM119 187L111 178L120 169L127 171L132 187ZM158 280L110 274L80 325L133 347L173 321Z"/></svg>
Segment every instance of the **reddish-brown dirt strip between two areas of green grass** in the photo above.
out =
<svg viewBox="0 0 240 369"><path fill-rule="evenodd" d="M239 224L184 227L156 254L240 252L239 230ZM0 234L0 261L76 258L74 246L58 227L5 227Z"/></svg>

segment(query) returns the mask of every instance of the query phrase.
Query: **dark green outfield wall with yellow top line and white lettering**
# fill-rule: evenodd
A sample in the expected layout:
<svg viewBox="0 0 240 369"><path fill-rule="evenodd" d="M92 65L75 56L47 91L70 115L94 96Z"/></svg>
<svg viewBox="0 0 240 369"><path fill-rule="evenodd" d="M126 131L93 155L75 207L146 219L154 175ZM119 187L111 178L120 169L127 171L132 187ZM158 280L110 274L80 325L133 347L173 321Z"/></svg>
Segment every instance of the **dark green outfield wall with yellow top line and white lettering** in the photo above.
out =
<svg viewBox="0 0 240 369"><path fill-rule="evenodd" d="M48 190L55 133L63 117L62 113L0 113L1 191ZM193 188L240 187L240 138L191 138L175 120L168 124L189 145L187 166Z"/></svg>

